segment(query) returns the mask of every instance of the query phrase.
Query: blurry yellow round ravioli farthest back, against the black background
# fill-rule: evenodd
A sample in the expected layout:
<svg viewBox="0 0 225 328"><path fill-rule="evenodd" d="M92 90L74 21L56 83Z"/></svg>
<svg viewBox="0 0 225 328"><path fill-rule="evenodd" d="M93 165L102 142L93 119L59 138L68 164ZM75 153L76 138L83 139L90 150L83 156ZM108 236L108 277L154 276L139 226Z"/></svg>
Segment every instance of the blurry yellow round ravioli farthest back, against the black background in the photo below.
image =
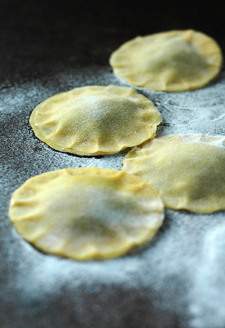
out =
<svg viewBox="0 0 225 328"><path fill-rule="evenodd" d="M200 88L220 71L222 53L211 37L193 30L138 36L110 57L115 74L156 91Z"/></svg>

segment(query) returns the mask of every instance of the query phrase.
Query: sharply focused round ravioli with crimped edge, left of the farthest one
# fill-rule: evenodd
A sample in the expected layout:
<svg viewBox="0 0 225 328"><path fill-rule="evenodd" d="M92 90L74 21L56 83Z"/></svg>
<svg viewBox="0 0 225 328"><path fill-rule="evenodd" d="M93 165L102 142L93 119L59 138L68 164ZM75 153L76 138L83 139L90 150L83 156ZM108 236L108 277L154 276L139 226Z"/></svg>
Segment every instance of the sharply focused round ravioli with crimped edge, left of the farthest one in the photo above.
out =
<svg viewBox="0 0 225 328"><path fill-rule="evenodd" d="M161 115L134 89L87 86L38 105L30 124L53 149L77 155L112 154L155 135Z"/></svg>

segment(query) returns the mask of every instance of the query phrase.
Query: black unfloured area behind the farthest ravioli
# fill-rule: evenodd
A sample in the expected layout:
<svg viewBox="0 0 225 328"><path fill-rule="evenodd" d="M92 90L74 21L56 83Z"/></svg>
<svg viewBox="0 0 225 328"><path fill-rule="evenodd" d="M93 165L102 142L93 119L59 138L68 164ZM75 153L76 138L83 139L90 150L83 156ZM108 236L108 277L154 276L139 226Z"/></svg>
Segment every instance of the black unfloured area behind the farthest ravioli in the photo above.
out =
<svg viewBox="0 0 225 328"><path fill-rule="evenodd" d="M13 84L77 64L108 65L110 53L136 35L195 29L224 51L224 8L213 2L2 1L1 81Z"/></svg>

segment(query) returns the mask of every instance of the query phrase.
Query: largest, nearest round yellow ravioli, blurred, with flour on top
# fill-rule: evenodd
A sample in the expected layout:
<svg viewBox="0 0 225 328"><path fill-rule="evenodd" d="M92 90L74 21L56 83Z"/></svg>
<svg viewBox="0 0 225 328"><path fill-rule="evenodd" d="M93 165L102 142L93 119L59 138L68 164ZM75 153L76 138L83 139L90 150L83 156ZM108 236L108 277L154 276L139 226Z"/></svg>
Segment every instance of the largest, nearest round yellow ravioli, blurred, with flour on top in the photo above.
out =
<svg viewBox="0 0 225 328"><path fill-rule="evenodd" d="M146 182L109 169L72 168L27 180L9 216L38 249L78 260L124 254L154 236L163 202Z"/></svg>

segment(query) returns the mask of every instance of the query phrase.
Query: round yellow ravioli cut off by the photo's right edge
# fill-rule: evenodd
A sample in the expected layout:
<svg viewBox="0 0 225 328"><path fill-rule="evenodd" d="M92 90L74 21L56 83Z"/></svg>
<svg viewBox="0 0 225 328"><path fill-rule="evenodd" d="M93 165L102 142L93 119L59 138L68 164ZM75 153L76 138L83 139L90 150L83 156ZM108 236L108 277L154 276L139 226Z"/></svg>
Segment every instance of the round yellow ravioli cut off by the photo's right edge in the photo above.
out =
<svg viewBox="0 0 225 328"><path fill-rule="evenodd" d="M134 147L122 171L156 189L165 206L198 213L225 209L224 137L167 135Z"/></svg>

